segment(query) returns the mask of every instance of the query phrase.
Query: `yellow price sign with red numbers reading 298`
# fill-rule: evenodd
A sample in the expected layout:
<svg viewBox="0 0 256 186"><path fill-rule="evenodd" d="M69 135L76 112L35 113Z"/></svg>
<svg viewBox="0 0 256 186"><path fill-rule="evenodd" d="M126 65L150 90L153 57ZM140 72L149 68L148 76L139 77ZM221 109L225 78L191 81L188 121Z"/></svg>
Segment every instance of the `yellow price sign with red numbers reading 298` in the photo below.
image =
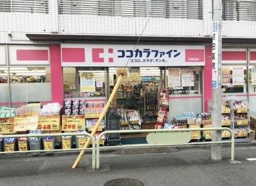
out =
<svg viewBox="0 0 256 186"><path fill-rule="evenodd" d="M84 116L62 116L62 130L84 130Z"/></svg>

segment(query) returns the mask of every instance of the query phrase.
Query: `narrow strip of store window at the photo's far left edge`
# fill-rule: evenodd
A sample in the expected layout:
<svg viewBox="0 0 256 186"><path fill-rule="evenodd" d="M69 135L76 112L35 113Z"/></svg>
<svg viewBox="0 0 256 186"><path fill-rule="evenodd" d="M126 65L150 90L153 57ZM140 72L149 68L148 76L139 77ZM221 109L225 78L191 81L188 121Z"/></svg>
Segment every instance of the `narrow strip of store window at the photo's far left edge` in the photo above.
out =
<svg viewBox="0 0 256 186"><path fill-rule="evenodd" d="M9 85L7 68L0 67L0 107L9 107Z"/></svg>

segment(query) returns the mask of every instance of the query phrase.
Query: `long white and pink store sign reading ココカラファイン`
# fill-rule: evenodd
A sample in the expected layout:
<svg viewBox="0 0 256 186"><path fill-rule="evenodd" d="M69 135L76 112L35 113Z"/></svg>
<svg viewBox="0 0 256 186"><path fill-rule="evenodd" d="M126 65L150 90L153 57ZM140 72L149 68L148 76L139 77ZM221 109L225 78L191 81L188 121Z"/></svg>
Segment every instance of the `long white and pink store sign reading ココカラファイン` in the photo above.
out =
<svg viewBox="0 0 256 186"><path fill-rule="evenodd" d="M61 44L62 66L204 66L203 45Z"/></svg>

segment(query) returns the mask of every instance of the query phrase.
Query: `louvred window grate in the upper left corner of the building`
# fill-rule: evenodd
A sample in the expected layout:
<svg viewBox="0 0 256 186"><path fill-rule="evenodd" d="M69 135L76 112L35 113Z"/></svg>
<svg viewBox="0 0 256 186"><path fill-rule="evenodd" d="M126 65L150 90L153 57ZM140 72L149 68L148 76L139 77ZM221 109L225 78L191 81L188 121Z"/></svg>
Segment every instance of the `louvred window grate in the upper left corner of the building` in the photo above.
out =
<svg viewBox="0 0 256 186"><path fill-rule="evenodd" d="M48 0L0 0L0 12L49 13Z"/></svg>

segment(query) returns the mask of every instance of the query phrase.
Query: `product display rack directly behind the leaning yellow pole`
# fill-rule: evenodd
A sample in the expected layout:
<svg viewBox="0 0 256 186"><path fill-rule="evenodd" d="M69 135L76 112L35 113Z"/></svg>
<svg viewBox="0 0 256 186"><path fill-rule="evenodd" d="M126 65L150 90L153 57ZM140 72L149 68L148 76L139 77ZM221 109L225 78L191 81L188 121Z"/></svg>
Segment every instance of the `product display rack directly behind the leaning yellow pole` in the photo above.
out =
<svg viewBox="0 0 256 186"><path fill-rule="evenodd" d="M105 102L102 101L89 101L86 102L85 108L85 123L86 123L86 131L91 133L94 129L95 124L97 123L101 112L105 107ZM106 129L106 118L101 121L99 127L97 128L95 137L97 138L97 134L100 134L102 131ZM90 143L92 145L92 142ZM100 145L105 144L105 138L100 140Z"/></svg>

